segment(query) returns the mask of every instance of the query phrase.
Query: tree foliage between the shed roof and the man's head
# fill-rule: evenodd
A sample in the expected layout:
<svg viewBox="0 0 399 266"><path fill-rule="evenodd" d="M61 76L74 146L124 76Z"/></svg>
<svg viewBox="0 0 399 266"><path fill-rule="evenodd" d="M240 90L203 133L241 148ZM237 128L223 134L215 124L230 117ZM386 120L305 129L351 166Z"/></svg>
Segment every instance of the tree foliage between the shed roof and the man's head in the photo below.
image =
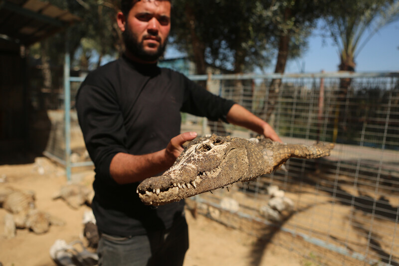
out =
<svg viewBox="0 0 399 266"><path fill-rule="evenodd" d="M98 67L105 54L115 54L121 50L121 36L115 21L118 10L117 0L49 0L53 5L77 15L80 22L74 23L67 31L56 34L32 47L32 53L40 53L52 64L62 65L65 52L65 39L74 65L89 68L89 60L97 55ZM68 34L66 34L68 33ZM40 48L44 47L44 48ZM45 53L45 54L44 54Z"/></svg>

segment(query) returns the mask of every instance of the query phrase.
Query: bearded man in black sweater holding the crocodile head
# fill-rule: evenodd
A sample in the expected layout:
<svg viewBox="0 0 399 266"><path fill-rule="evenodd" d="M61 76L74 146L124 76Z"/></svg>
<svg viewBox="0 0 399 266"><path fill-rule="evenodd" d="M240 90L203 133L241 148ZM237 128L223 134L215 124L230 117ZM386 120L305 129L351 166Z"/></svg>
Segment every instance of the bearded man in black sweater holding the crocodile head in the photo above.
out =
<svg viewBox="0 0 399 266"><path fill-rule="evenodd" d="M76 97L95 164L92 209L100 265L183 265L188 249L184 201L152 208L136 194L160 175L195 132L180 133L180 112L247 127L281 141L269 124L170 69L157 67L171 23L170 0L122 0L117 14L126 51L90 73Z"/></svg>

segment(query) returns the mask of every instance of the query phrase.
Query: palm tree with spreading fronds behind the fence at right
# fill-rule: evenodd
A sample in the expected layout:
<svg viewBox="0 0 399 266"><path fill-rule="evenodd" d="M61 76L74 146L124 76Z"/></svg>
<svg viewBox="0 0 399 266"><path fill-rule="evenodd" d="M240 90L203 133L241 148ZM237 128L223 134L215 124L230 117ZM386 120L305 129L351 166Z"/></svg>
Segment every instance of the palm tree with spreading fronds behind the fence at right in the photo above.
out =
<svg viewBox="0 0 399 266"><path fill-rule="evenodd" d="M398 0L337 0L329 6L330 15L325 18L331 36L338 46L340 71L354 72L355 59L367 42L382 27L399 19ZM342 122L342 132L347 130L343 115L351 78L341 78L337 95L333 142L339 131L338 121Z"/></svg>

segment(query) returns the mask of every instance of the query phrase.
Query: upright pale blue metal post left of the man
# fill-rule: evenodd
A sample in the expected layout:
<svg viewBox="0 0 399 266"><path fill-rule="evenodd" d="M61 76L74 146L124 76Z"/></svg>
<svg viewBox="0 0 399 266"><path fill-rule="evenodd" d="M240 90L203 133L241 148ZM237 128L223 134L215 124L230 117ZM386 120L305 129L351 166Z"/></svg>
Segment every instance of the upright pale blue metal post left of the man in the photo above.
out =
<svg viewBox="0 0 399 266"><path fill-rule="evenodd" d="M64 108L65 108L65 172L68 182L71 181L71 82L70 55L68 49L68 33L65 34L65 62L64 62Z"/></svg>

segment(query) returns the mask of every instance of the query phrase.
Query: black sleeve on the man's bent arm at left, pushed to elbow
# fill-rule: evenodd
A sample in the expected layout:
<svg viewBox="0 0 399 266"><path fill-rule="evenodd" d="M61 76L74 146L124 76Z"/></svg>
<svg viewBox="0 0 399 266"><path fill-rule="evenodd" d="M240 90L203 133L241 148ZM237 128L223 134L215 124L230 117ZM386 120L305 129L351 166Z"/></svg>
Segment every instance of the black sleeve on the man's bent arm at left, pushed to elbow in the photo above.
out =
<svg viewBox="0 0 399 266"><path fill-rule="evenodd" d="M79 125L90 158L94 162L96 178L106 184L117 185L110 175L112 158L119 152L128 153L126 130L112 88L83 83L76 96Z"/></svg>

